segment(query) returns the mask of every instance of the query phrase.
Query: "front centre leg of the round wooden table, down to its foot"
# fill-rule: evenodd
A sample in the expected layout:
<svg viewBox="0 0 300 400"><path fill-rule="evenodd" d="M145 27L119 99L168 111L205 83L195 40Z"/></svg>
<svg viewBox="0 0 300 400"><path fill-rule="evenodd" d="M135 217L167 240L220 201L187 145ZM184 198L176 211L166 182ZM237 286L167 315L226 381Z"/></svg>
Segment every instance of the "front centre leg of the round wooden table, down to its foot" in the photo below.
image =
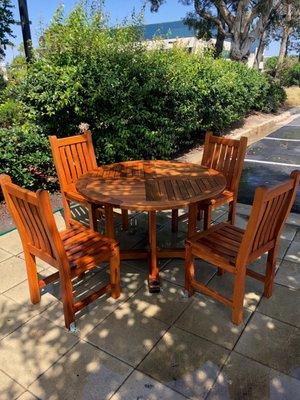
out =
<svg viewBox="0 0 300 400"><path fill-rule="evenodd" d="M150 246L150 257L149 257L149 292L158 293L159 287L159 275L157 266L157 243L156 243L156 211L149 211L148 214L148 231L149 231L149 246Z"/></svg>

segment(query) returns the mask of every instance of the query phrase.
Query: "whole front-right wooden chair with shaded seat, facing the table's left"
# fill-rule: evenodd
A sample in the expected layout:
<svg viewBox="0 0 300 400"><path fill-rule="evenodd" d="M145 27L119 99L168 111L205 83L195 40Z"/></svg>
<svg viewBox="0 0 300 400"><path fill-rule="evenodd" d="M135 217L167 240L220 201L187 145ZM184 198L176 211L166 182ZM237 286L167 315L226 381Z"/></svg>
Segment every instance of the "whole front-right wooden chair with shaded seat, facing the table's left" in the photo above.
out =
<svg viewBox="0 0 300 400"><path fill-rule="evenodd" d="M243 319L245 277L249 275L264 283L264 296L270 297L276 267L280 233L295 200L300 171L272 189L256 189L252 212L245 230L224 222L198 233L186 242L185 288L207 294L232 308L232 322ZM268 252L265 275L247 265ZM201 258L216 267L234 274L233 297L227 298L195 280L193 258Z"/></svg>

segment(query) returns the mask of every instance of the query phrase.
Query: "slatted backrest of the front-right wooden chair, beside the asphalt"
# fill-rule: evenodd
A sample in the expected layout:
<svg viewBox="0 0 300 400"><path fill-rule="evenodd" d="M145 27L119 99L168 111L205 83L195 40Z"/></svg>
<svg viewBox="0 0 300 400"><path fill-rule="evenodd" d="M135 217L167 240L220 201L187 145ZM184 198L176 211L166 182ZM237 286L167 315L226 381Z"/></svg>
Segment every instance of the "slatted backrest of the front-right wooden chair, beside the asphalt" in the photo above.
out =
<svg viewBox="0 0 300 400"><path fill-rule="evenodd" d="M278 244L296 197L299 180L300 171L293 171L287 181L271 189L256 189L239 257L254 260Z"/></svg>

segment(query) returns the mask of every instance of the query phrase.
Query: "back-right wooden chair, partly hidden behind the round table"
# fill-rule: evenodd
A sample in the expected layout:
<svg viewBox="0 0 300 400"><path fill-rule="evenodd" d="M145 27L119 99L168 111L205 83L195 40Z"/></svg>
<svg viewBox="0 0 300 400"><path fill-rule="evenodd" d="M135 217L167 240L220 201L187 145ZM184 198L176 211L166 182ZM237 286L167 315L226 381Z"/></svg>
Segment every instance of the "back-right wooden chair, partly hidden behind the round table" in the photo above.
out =
<svg viewBox="0 0 300 400"><path fill-rule="evenodd" d="M199 216L204 211L203 229L211 224L212 210L223 204L229 204L228 221L234 224L238 188L247 149L247 138L240 140L205 135L204 152L201 165L221 172L227 179L225 190L217 197L199 203ZM172 211L172 231L178 230L178 211Z"/></svg>

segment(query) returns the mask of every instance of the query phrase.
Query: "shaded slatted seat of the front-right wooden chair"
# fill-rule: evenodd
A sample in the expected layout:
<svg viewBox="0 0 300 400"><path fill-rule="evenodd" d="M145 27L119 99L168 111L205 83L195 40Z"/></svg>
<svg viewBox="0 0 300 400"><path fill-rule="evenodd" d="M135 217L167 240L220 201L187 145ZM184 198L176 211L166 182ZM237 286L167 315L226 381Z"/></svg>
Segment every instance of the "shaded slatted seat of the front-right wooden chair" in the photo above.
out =
<svg viewBox="0 0 300 400"><path fill-rule="evenodd" d="M225 262L234 266L244 230L227 222L214 225L187 240L193 248L193 253L199 257L216 262Z"/></svg>

